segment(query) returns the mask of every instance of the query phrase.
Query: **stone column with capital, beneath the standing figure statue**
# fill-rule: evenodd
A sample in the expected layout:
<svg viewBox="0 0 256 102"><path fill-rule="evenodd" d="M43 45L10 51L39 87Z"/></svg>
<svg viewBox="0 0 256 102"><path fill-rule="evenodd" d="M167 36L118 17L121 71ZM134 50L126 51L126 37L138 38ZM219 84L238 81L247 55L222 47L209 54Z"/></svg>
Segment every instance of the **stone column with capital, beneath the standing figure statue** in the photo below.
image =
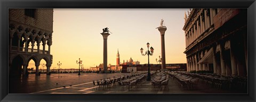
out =
<svg viewBox="0 0 256 102"><path fill-rule="evenodd" d="M162 54L162 69L165 69L165 45L164 45L164 34L167 28L164 27L158 27L158 31L161 34L161 54Z"/></svg>

